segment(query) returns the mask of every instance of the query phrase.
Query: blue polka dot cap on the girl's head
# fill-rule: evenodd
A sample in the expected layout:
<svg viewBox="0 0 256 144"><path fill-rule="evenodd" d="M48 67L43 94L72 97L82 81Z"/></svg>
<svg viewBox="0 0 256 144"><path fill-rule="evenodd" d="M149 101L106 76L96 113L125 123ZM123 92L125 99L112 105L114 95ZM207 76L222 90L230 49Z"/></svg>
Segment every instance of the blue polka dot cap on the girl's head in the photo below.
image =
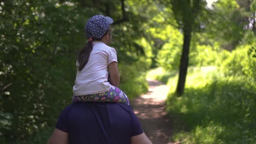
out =
<svg viewBox="0 0 256 144"><path fill-rule="evenodd" d="M108 27L114 21L108 16L92 16L85 25L85 33L88 38L102 38Z"/></svg>

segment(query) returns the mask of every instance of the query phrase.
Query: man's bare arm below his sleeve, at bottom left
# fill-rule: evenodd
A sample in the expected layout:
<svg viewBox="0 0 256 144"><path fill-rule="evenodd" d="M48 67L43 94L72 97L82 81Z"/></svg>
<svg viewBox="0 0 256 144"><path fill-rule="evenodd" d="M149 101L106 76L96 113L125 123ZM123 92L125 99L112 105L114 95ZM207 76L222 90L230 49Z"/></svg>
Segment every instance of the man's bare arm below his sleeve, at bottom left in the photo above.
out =
<svg viewBox="0 0 256 144"><path fill-rule="evenodd" d="M69 144L69 133L55 128L48 144Z"/></svg>

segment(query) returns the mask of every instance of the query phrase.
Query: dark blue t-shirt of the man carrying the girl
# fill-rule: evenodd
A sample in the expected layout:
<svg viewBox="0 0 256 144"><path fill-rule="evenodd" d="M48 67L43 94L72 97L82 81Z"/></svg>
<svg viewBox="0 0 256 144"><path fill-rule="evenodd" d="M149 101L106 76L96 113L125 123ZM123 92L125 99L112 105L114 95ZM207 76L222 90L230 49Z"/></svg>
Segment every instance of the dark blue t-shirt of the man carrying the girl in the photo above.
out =
<svg viewBox="0 0 256 144"><path fill-rule="evenodd" d="M56 128L69 133L69 144L130 144L132 136L143 133L130 105L110 102L73 103Z"/></svg>

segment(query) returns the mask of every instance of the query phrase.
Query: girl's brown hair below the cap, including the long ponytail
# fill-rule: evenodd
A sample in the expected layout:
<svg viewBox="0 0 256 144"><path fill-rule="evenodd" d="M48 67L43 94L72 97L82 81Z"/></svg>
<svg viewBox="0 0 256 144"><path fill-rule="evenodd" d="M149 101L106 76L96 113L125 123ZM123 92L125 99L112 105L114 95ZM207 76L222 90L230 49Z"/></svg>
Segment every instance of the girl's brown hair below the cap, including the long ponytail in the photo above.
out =
<svg viewBox="0 0 256 144"><path fill-rule="evenodd" d="M79 62L78 70L81 71L89 60L89 56L92 52L92 42L95 40L101 40L105 35L111 35L112 28L108 27L108 30L101 38L92 38L92 41L88 41L85 46L78 52L77 61Z"/></svg>

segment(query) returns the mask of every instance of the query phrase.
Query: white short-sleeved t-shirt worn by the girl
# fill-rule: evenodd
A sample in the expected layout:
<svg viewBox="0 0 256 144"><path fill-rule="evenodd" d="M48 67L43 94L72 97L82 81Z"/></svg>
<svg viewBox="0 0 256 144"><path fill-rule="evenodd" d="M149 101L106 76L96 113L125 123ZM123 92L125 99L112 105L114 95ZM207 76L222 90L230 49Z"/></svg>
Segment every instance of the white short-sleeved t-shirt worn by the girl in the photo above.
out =
<svg viewBox="0 0 256 144"><path fill-rule="evenodd" d="M85 67L77 71L73 95L90 95L106 92L111 88L108 82L108 64L117 62L114 48L100 41L93 42L92 52ZM79 62L76 61L76 66Z"/></svg>

